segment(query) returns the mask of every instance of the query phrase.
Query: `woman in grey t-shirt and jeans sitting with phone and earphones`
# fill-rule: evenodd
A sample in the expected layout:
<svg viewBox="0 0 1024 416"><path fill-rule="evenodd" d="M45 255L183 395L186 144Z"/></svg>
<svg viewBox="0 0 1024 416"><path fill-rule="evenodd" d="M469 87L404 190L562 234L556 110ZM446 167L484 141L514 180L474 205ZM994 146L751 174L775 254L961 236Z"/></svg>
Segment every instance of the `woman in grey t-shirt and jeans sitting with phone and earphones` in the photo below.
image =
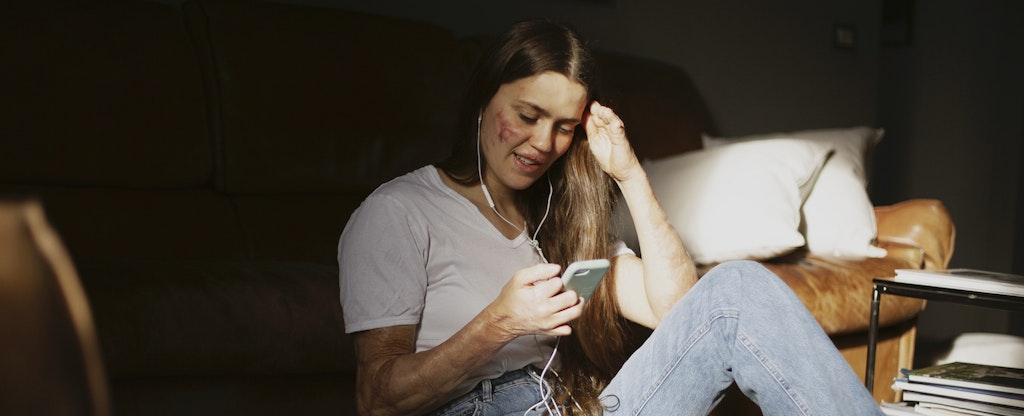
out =
<svg viewBox="0 0 1024 416"><path fill-rule="evenodd" d="M571 30L513 26L452 157L353 213L339 264L360 413L707 414L736 382L766 414L881 414L770 272L698 283L594 68ZM610 234L616 190L643 259ZM582 299L558 274L590 258L612 267ZM657 329L635 348L627 321Z"/></svg>

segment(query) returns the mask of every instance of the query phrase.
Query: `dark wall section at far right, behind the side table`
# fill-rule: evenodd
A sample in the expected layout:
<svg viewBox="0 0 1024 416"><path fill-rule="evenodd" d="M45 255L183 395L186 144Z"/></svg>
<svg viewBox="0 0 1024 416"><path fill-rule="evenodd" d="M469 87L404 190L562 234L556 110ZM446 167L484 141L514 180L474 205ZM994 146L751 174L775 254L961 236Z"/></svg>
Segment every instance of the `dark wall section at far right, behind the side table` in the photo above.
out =
<svg viewBox="0 0 1024 416"><path fill-rule="evenodd" d="M884 47L872 199L938 198L956 223L951 266L1021 271L1024 3L919 0L908 44ZM921 335L1009 330L1010 314L931 302Z"/></svg>

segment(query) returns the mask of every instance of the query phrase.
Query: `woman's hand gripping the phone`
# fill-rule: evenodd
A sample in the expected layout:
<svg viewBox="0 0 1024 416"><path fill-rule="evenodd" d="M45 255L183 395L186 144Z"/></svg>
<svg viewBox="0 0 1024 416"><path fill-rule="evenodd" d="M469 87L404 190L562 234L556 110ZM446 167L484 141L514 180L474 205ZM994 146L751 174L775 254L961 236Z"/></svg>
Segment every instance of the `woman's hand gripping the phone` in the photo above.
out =
<svg viewBox="0 0 1024 416"><path fill-rule="evenodd" d="M529 334L570 334L568 323L583 313L583 300L562 290L560 269L558 264L537 264L516 272L483 310L496 329L509 340Z"/></svg>

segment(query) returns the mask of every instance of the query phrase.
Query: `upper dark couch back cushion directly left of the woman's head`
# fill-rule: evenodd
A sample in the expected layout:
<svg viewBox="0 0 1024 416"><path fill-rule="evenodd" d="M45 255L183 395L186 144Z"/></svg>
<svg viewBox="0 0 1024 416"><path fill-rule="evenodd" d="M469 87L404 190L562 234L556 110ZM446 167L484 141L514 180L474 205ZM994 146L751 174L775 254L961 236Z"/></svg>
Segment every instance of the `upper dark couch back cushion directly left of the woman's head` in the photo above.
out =
<svg viewBox="0 0 1024 416"><path fill-rule="evenodd" d="M374 186L446 156L458 39L343 10L204 1L231 194Z"/></svg>

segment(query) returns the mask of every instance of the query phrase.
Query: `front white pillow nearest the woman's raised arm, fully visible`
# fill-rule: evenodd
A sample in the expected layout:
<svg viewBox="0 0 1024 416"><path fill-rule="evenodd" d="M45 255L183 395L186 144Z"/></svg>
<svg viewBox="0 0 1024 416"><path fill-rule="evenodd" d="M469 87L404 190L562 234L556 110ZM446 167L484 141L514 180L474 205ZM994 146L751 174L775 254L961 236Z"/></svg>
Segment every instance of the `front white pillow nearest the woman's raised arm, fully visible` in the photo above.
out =
<svg viewBox="0 0 1024 416"><path fill-rule="evenodd" d="M654 195L699 264L766 259L804 246L800 206L831 147L759 140L645 162ZM621 238L637 247L621 203Z"/></svg>

